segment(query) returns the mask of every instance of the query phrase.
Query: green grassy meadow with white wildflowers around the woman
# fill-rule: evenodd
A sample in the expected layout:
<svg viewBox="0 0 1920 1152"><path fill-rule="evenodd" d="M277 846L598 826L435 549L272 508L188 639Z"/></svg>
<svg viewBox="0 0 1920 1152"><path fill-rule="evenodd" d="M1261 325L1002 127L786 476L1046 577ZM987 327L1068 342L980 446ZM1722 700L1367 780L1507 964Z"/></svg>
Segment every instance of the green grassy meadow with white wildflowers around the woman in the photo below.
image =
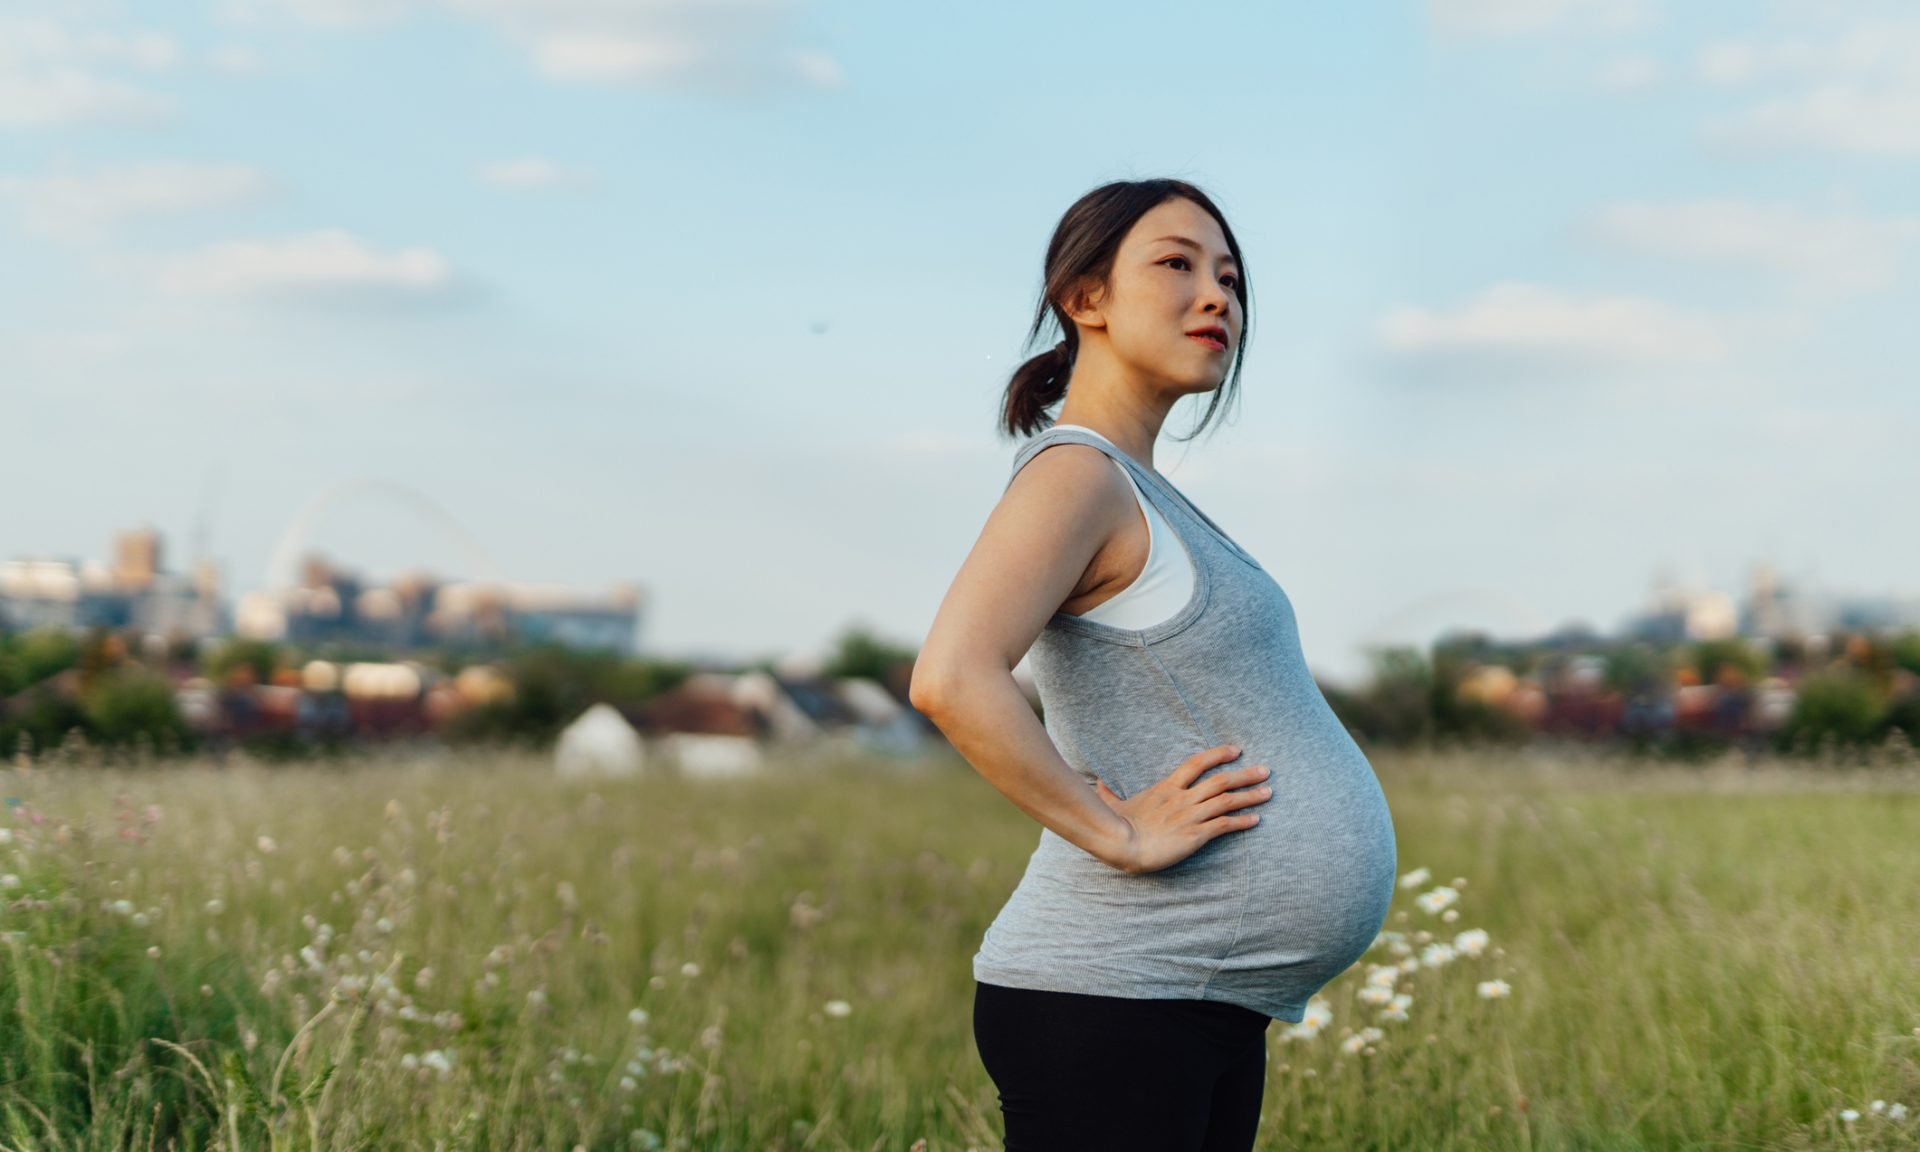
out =
<svg viewBox="0 0 1920 1152"><path fill-rule="evenodd" d="M1271 1025L1261 1148L1920 1148L1912 766L1377 766L1413 876ZM958 760L4 793L4 1148L998 1148L970 958L1037 826Z"/></svg>

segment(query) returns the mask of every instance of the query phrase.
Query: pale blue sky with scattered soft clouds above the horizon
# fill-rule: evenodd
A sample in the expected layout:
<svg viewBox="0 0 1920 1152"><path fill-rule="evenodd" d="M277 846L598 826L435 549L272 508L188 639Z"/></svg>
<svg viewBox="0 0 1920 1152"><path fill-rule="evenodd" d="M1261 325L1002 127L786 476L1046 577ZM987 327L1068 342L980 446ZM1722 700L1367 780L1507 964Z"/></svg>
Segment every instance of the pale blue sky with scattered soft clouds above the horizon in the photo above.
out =
<svg viewBox="0 0 1920 1152"><path fill-rule="evenodd" d="M636 580L657 651L916 643L1054 221L1179 175L1254 342L1156 463L1323 676L1912 593L1916 173L1891 2L0 0L0 555L204 524L244 593L334 492L349 564Z"/></svg>

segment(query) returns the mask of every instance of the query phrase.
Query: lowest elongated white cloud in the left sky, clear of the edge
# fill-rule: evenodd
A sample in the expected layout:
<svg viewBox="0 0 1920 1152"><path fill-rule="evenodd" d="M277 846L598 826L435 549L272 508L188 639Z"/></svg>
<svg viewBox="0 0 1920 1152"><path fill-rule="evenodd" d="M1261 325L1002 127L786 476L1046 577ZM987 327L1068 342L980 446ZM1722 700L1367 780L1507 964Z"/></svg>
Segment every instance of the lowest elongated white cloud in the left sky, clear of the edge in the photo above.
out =
<svg viewBox="0 0 1920 1152"><path fill-rule="evenodd" d="M204 248L173 261L165 284L180 292L250 298L430 298L453 286L453 273L428 248L380 252L351 232L330 228Z"/></svg>

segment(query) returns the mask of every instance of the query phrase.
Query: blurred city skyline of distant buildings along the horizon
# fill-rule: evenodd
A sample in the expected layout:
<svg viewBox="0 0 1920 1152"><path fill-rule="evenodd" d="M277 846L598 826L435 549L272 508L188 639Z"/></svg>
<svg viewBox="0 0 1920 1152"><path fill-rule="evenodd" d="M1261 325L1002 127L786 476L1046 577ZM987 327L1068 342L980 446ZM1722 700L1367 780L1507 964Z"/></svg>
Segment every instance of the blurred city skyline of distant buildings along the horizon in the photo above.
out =
<svg viewBox="0 0 1920 1152"><path fill-rule="evenodd" d="M551 639L630 657L685 659L701 666L743 666L766 659L810 666L831 657L829 645L760 647L751 653L660 649L641 639L651 632L653 620L647 586L637 582L616 582L611 591L593 591L499 578L468 580L417 564L376 576L344 557L300 551L298 572L288 582L230 597L217 557L190 559L188 572L167 564L165 555L165 538L152 526L138 526L113 536L111 559L106 563L83 557L0 557L0 628L90 628L115 626L111 620L119 620L119 626L148 632L148 643L184 636L267 639L296 647L346 641L390 651L419 651L436 643L459 649L476 641L505 643L497 651L507 651L515 643ZM1645 599L1613 622L1561 620L1551 628L1488 630L1446 622L1434 614L1434 603L1419 607L1428 609L1430 622L1438 620L1430 628L1432 636L1375 647L1411 643L1427 651L1444 634L1482 636L1501 645L1563 647L1569 639L1586 636L1609 643L1692 643L1736 636L1830 641L1834 634L1845 632L1920 630L1920 593L1849 595L1782 578L1766 563L1747 572L1738 595L1711 584L1684 584L1655 574ZM870 624L851 618L835 630L833 641L860 630L870 630ZM1357 689L1363 682L1359 674L1315 674L1348 689Z"/></svg>

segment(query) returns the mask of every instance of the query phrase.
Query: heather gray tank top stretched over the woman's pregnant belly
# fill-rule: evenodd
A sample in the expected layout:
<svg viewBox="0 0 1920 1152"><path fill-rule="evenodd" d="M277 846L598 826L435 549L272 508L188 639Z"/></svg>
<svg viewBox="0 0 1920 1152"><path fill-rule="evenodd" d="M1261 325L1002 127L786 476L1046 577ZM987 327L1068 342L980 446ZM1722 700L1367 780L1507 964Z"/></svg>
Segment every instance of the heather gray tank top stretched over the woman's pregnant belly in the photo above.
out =
<svg viewBox="0 0 1920 1152"><path fill-rule="evenodd" d="M1273 799L1254 806L1260 824L1146 874L1043 828L973 977L1225 1000L1298 1023L1386 918L1398 866L1386 797L1313 684L1292 603L1260 561L1160 474L1087 432L1033 436L1012 472L1054 444L1098 447L1133 474L1192 559L1194 591L1144 630L1054 612L1027 655L1046 733L1089 785L1104 780L1119 797L1198 751L1238 745L1238 760L1208 774L1267 764Z"/></svg>

